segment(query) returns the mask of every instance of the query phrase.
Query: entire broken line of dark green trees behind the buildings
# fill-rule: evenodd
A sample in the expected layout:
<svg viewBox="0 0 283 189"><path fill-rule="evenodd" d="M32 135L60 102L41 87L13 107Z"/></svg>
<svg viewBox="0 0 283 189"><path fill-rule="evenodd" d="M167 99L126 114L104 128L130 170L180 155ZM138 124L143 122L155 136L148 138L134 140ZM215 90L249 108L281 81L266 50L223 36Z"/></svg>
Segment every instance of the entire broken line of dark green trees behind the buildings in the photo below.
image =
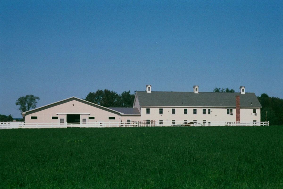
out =
<svg viewBox="0 0 283 189"><path fill-rule="evenodd" d="M214 88L213 92L235 92L234 89L229 88ZM130 91L124 91L121 94L117 94L114 91L108 89L97 90L96 92L89 92L84 100L104 106L104 107L132 107L134 103L135 94L131 94ZM19 110L22 112L29 111L37 107L37 101L39 97L34 95L25 95L19 97L16 101L16 105L19 106ZM283 99L278 97L269 97L266 93L258 96L258 100L262 106L261 108L261 121L269 121L270 125L283 125ZM12 115L1 115L0 121L12 121L14 120ZM23 120L18 120L23 121Z"/></svg>

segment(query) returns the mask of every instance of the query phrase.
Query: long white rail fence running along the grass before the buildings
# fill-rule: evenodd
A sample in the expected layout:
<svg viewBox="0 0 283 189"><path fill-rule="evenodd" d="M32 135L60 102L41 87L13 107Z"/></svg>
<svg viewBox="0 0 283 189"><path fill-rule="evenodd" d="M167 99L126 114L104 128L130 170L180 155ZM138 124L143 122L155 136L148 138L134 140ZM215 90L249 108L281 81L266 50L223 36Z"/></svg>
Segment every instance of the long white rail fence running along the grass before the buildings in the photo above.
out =
<svg viewBox="0 0 283 189"><path fill-rule="evenodd" d="M0 122L0 129L16 128L105 128L105 127L171 127L171 126L269 126L269 122L158 122L157 120L137 122L92 122L92 123L29 123Z"/></svg>

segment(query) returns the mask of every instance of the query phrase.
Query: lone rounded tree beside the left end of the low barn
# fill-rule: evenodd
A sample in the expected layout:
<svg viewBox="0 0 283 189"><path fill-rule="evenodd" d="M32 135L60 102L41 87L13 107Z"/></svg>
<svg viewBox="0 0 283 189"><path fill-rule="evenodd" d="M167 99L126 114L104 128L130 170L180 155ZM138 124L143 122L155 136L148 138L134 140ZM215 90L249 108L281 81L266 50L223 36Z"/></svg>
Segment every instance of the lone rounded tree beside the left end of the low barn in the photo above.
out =
<svg viewBox="0 0 283 189"><path fill-rule="evenodd" d="M34 95L25 95L18 98L16 105L19 106L19 110L22 112L29 111L31 108L36 108L37 100L39 97Z"/></svg>

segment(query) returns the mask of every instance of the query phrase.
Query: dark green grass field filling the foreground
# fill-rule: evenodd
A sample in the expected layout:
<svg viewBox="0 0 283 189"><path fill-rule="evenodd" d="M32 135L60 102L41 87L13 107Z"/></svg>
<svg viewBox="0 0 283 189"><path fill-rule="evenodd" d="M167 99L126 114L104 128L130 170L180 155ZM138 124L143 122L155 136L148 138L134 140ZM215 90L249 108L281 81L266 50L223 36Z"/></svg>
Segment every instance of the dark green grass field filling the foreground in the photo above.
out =
<svg viewBox="0 0 283 189"><path fill-rule="evenodd" d="M0 188L283 188L283 127L0 130Z"/></svg>

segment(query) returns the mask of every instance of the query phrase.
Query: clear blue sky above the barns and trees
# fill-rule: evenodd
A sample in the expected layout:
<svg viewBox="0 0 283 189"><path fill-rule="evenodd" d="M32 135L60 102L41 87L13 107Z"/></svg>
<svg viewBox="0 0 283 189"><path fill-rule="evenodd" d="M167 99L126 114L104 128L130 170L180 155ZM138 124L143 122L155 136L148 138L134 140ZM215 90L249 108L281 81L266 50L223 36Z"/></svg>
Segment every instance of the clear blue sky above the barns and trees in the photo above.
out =
<svg viewBox="0 0 283 189"><path fill-rule="evenodd" d="M283 98L283 1L1 1L0 114L109 89Z"/></svg>

